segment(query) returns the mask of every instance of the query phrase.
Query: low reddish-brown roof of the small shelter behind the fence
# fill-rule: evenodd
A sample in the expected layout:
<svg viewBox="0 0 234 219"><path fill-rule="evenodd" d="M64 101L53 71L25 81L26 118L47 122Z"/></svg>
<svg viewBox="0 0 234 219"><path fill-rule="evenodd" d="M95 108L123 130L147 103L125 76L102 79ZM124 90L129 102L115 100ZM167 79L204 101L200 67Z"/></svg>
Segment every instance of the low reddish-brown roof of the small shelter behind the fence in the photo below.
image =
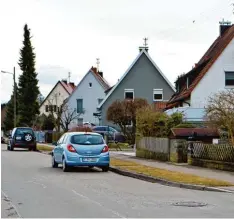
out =
<svg viewBox="0 0 234 219"><path fill-rule="evenodd" d="M219 136L219 131L213 128L172 128L171 131L177 137L192 136L195 132L197 136Z"/></svg>

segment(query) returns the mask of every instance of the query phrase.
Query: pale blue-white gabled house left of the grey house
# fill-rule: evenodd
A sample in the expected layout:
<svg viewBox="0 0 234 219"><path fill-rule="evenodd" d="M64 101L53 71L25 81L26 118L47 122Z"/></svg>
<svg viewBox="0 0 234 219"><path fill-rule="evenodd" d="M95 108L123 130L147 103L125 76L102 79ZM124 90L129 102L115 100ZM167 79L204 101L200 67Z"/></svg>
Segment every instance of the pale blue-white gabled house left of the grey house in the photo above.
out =
<svg viewBox="0 0 234 219"><path fill-rule="evenodd" d="M69 126L72 128L83 122L99 124L98 117L93 113L96 111L98 104L105 98L105 91L110 85L103 77L103 72L92 67L82 78L72 95L68 98L69 108L76 109L76 113L82 113L77 120L73 120Z"/></svg>

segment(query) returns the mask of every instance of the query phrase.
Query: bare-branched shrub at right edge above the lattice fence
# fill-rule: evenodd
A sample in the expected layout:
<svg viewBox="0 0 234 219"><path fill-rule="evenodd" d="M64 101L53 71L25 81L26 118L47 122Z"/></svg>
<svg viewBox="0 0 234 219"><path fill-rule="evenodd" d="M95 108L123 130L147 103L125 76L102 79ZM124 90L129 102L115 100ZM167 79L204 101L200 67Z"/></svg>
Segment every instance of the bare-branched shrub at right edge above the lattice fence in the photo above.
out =
<svg viewBox="0 0 234 219"><path fill-rule="evenodd" d="M228 138L234 146L234 89L211 96L206 114L212 125L228 132Z"/></svg>

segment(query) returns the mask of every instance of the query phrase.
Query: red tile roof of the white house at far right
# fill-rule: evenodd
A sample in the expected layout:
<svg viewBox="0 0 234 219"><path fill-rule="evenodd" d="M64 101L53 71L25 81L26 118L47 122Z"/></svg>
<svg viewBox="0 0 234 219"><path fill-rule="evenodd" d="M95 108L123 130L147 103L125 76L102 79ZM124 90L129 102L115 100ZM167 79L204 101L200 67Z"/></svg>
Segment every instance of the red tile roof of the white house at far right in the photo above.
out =
<svg viewBox="0 0 234 219"><path fill-rule="evenodd" d="M207 52L203 55L201 60L196 64L196 66L188 72L184 77L188 74L194 75L196 73L197 76L192 81L191 85L187 88L186 82L183 87L181 87L179 93L175 93L170 101L167 104L167 109L173 108L174 106L179 105L179 101L185 100L190 97L193 89L197 86L203 76L208 72L211 66L215 63L218 57L222 54L227 45L234 38L234 25L232 25L229 29L227 29L222 36L219 36L211 47L207 50ZM185 80L186 81L186 80Z"/></svg>

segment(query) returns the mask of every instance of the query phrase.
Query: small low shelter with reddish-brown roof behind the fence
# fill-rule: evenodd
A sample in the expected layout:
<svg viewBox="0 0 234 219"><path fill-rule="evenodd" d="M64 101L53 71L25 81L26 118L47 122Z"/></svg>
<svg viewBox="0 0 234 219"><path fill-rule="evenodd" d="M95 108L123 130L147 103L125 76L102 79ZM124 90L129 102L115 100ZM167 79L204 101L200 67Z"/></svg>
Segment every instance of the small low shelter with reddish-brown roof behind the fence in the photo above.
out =
<svg viewBox="0 0 234 219"><path fill-rule="evenodd" d="M220 134L214 128L172 128L170 139L185 139L192 141L202 141L212 144L213 139L219 139Z"/></svg>

